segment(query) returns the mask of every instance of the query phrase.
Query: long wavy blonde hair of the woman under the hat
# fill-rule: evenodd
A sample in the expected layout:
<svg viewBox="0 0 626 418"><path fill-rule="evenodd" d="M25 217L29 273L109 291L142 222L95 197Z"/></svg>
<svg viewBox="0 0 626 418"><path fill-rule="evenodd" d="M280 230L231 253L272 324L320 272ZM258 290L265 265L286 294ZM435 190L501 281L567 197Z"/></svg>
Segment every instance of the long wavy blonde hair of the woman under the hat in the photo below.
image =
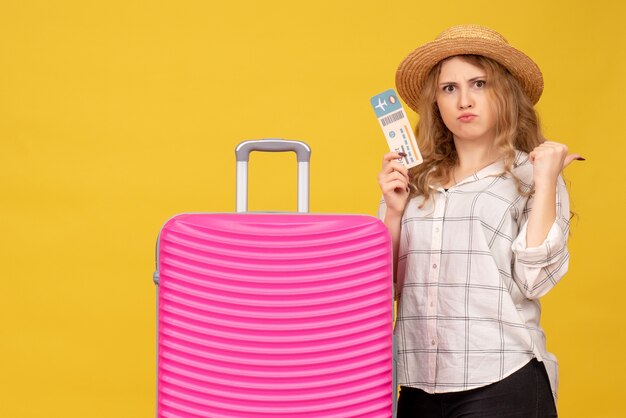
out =
<svg viewBox="0 0 626 418"><path fill-rule="evenodd" d="M487 88L493 98L496 112L496 138L494 146L504 159L504 169L515 180L520 194L528 196L513 173L515 151L530 153L545 141L541 133L539 117L530 99L524 94L517 79L498 62L480 55L457 55L464 61L481 68L486 73ZM453 58L453 57L450 57ZM446 127L437 106L437 91L441 66L440 61L430 71L424 83L419 103L420 119L416 128L416 139L424 162L409 171L411 197L430 197L431 184L446 184L452 179L452 170L458 155L452 132ZM422 204L423 205L423 204Z"/></svg>

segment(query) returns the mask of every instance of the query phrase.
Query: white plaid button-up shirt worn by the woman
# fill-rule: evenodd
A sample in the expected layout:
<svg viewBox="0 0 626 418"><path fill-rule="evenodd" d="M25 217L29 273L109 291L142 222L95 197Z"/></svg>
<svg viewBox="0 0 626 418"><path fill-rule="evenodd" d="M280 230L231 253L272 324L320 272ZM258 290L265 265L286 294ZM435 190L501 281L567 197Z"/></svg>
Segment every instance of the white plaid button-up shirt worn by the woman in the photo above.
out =
<svg viewBox="0 0 626 418"><path fill-rule="evenodd" d="M398 254L400 295L395 338L398 383L429 393L488 385L543 361L553 395L556 358L547 352L538 298L565 274L569 198L557 188L557 219L546 240L526 248L533 198L495 162L447 192L433 187L423 208L411 199L402 218ZM528 155L513 173L532 184ZM379 217L384 218L381 202Z"/></svg>

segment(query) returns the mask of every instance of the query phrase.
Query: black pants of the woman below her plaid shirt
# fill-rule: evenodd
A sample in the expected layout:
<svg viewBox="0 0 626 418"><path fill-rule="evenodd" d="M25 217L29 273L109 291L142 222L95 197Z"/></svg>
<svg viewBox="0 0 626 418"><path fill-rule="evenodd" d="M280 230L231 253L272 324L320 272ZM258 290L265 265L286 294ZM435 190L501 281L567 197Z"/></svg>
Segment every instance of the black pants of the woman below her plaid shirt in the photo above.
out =
<svg viewBox="0 0 626 418"><path fill-rule="evenodd" d="M402 386L398 418L553 418L556 407L543 363L536 359L509 377L462 392L429 394Z"/></svg>

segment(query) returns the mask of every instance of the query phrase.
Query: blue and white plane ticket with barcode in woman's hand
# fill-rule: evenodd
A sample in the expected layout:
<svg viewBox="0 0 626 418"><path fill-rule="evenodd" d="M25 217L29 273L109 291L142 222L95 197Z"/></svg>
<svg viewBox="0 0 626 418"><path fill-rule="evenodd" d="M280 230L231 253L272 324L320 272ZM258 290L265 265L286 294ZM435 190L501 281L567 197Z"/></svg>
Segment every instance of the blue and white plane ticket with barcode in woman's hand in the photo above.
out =
<svg viewBox="0 0 626 418"><path fill-rule="evenodd" d="M377 94L370 99L376 117L383 128L389 149L403 152L406 157L398 159L406 168L415 167L424 160L417 148L415 135L411 130L409 119L394 89Z"/></svg>

